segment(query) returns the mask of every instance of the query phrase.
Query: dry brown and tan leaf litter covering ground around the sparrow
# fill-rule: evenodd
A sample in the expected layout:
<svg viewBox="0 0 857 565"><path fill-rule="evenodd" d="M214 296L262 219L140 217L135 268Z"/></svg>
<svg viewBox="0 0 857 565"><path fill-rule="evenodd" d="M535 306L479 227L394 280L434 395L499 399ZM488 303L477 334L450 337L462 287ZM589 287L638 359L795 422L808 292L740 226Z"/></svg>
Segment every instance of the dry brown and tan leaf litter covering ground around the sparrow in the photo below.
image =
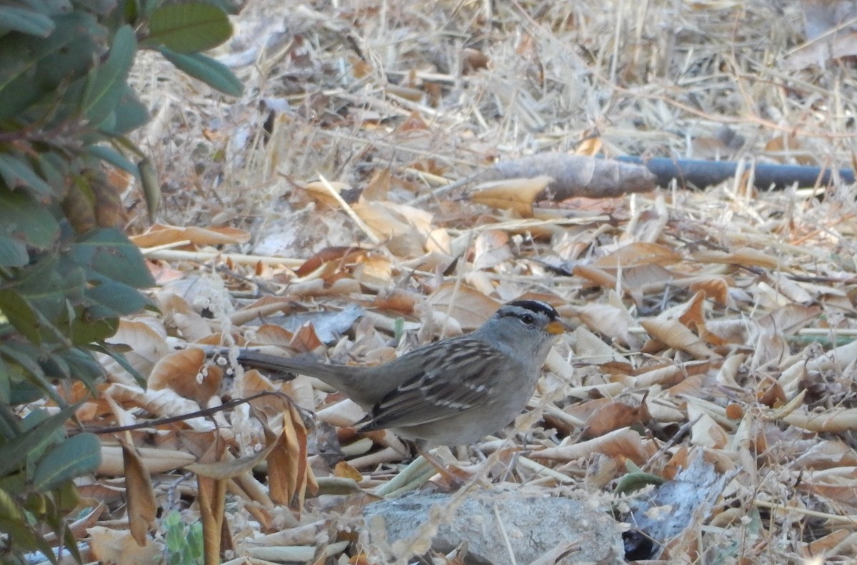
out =
<svg viewBox="0 0 857 565"><path fill-rule="evenodd" d="M357 555L361 506L434 472L357 433L337 391L239 370L235 349L382 363L526 297L573 329L528 412L447 464L632 520L657 487L623 478L704 460L724 479L699 472L717 488L665 526L662 559L854 559L854 186L632 193L579 161L569 177L602 192L553 199L542 178L595 155L853 164L849 44L804 30L830 4L248 3L215 52L237 100L141 57L164 202L149 228L129 193L129 231L159 312L115 338L148 388L105 358L78 411L105 450L84 496L136 501L103 499L93 558L150 559L121 551L147 529L163 547L153 504L235 562ZM518 172L476 186L504 163Z"/></svg>

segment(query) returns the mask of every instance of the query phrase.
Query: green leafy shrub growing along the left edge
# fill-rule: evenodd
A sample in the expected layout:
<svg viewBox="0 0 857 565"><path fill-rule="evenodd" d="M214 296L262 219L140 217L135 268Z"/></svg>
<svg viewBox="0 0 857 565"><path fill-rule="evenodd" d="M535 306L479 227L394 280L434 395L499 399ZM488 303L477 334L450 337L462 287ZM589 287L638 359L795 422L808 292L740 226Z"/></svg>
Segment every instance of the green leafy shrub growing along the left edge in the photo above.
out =
<svg viewBox="0 0 857 565"><path fill-rule="evenodd" d="M241 93L229 69L200 53L229 39L228 13L225 0L0 3L0 562L28 550L53 559L49 531L80 560L65 515L77 501L72 479L99 466L100 443L67 436L76 405L56 384L94 391L103 375L93 352L124 362L105 340L120 316L148 305L140 291L153 286L117 228L120 189L108 175L140 178L153 212L153 169L125 137L149 119L129 73L151 49ZM57 408L22 409L43 399ZM201 538L183 541L201 550Z"/></svg>

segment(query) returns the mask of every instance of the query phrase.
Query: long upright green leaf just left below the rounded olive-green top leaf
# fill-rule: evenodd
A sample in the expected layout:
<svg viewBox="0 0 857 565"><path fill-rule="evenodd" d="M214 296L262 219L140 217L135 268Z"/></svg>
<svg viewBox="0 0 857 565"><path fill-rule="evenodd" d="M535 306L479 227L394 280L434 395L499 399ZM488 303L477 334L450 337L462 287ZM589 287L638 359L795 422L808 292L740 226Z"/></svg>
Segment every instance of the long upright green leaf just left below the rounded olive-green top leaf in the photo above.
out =
<svg viewBox="0 0 857 565"><path fill-rule="evenodd" d="M122 99L136 52L134 30L130 26L120 27L113 36L110 56L104 64L91 71L95 73L95 79L84 99L83 114L93 125L104 121Z"/></svg>

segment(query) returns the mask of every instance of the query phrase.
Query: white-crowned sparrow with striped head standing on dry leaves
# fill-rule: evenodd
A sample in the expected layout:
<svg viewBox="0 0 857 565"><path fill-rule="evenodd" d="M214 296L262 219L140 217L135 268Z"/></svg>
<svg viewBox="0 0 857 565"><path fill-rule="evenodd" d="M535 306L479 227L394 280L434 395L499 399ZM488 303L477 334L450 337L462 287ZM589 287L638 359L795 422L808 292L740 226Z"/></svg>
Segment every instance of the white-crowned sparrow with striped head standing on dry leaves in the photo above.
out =
<svg viewBox="0 0 857 565"><path fill-rule="evenodd" d="M318 364L249 350L238 354L238 363L327 382L368 412L361 430L390 428L423 444L464 445L500 430L524 410L563 330L550 305L516 300L470 334L383 365Z"/></svg>

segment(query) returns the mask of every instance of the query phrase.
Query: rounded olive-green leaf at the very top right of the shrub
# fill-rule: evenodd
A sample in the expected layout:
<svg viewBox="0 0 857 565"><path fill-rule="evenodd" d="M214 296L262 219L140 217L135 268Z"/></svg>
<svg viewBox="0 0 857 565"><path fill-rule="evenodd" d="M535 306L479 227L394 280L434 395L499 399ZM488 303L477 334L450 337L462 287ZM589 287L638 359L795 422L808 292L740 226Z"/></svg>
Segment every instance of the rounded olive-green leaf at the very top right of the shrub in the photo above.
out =
<svg viewBox="0 0 857 565"><path fill-rule="evenodd" d="M198 53L220 45L232 35L229 16L210 3L170 3L149 19L144 44L177 53Z"/></svg>

